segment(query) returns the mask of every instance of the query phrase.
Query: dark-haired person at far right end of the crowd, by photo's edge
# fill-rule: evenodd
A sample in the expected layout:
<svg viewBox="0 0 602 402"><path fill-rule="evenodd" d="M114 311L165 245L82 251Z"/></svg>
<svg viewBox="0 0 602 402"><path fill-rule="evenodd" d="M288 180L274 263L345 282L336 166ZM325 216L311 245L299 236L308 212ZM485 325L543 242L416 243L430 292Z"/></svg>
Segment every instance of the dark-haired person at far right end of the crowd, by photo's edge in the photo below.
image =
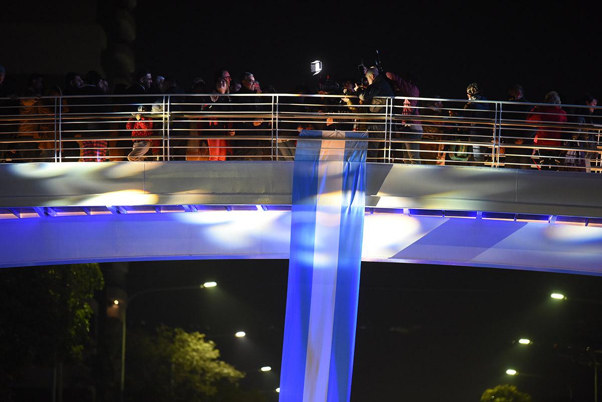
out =
<svg viewBox="0 0 602 402"><path fill-rule="evenodd" d="M577 149L571 149L566 152L566 165L569 167L569 170L590 173L592 170L592 157L595 156L595 152L592 151L597 149L597 140L593 131L594 120L592 119L592 114L595 111L595 107L598 105L598 99L591 94L586 93L585 96L578 102L575 102L575 104L582 107L574 107L573 110L571 110L569 121L579 125L579 128L573 129L571 135L572 141L568 141L568 146Z"/></svg>

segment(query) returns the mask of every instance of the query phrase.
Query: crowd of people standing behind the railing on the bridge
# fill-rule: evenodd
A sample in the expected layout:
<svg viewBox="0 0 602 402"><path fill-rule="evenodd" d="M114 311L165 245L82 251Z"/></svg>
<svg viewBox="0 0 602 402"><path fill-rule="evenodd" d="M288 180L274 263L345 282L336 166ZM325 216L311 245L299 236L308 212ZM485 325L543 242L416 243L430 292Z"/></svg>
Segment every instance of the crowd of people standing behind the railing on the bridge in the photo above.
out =
<svg viewBox="0 0 602 402"><path fill-rule="evenodd" d="M312 100L311 105L304 105L303 99L281 105L282 116L297 118L275 126L266 117L273 114L272 105L254 95L276 90L262 90L249 72L238 81L228 70L217 70L213 80L196 78L184 90L175 78L141 69L132 85L117 84L113 91L95 71L69 72L63 87L46 87L42 75L32 74L25 90L17 94L0 66L0 140L4 140L0 162L58 157L84 162L261 160L275 153L291 160L295 137L302 129L367 131L368 161L494 165L491 149L496 135L504 156L495 165L514 169L589 172L591 160L599 155L600 128L594 124L597 99L590 94L576 103L580 107L565 110L552 91L534 107L521 85L511 85L508 102L501 107L503 123L496 127L494 116L500 111L486 102L476 83L467 86L466 102L444 105L438 96L418 102L418 78L412 73L398 75L371 67L364 70L364 77L359 83L344 80L335 91L318 91L340 97ZM300 85L295 92L308 94L309 89ZM386 100L394 96L394 101ZM387 108L396 117L389 126L383 119ZM341 112L353 115L344 119ZM278 140L272 138L275 130ZM385 152L388 130L393 133L389 155ZM57 132L60 156L55 153Z"/></svg>

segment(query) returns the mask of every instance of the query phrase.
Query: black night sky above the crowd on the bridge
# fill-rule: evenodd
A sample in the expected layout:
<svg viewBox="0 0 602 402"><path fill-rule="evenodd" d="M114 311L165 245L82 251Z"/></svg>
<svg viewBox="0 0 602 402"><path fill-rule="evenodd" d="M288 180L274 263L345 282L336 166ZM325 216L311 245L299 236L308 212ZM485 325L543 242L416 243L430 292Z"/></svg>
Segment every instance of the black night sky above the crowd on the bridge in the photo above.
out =
<svg viewBox="0 0 602 402"><path fill-rule="evenodd" d="M550 90L565 103L600 93L599 18L591 2L172 2L157 13L138 2L137 63L175 75L211 79L249 70L281 92L312 83L309 62L320 59L331 78L354 76L361 58L379 49L385 68L421 77L424 96L465 97L482 83L505 99L519 82L539 102ZM370 11L368 11L370 10ZM364 18L365 13L372 14Z"/></svg>

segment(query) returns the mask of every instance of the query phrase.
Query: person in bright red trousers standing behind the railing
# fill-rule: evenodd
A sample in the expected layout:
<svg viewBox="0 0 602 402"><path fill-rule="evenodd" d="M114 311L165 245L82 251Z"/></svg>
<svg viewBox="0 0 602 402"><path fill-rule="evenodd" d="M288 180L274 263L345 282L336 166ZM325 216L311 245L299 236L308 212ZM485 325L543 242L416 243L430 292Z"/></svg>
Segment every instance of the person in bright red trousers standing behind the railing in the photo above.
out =
<svg viewBox="0 0 602 402"><path fill-rule="evenodd" d="M207 134L224 136L234 135L232 121L229 117L220 116L222 113L232 111L231 99L228 96L228 81L223 76L216 79L216 87L213 90L214 95L209 96L208 104L203 105L202 111L209 114ZM213 114L216 115L213 115ZM207 145L209 148L209 161L225 161L228 155L232 155L232 149L229 147L229 141L225 138L209 138Z"/></svg>

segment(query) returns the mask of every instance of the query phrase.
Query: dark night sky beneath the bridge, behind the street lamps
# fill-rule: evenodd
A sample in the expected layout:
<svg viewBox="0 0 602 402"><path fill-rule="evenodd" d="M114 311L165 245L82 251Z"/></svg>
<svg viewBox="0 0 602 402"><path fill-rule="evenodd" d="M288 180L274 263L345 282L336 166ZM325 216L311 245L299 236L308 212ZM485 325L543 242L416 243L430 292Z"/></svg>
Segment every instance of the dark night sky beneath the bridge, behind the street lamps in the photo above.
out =
<svg viewBox="0 0 602 402"><path fill-rule="evenodd" d="M173 261L130 264L131 291L216 280L203 291L158 293L132 303L128 318L216 335L223 358L249 382L278 386L288 261ZM432 265L363 263L352 401L476 401L515 383L536 401L593 398L592 369L566 347L600 342L602 279L569 274ZM142 326L141 321L144 321ZM232 334L245 330L245 339ZM524 347L513 340L528 337ZM554 349L553 345L558 347ZM565 354L568 357L562 357ZM262 376L256 370L270 365ZM534 377L510 379L512 366ZM253 371L255 370L255 371Z"/></svg>

